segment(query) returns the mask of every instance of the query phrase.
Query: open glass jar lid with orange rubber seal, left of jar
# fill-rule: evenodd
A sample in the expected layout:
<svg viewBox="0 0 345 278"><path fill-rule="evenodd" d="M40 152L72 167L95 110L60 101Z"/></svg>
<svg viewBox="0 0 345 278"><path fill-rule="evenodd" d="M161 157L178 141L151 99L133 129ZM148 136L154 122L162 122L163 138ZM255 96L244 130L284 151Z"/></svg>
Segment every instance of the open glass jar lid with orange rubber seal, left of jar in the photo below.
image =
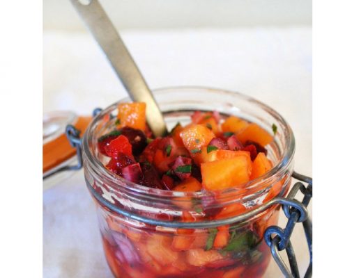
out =
<svg viewBox="0 0 345 278"><path fill-rule="evenodd" d="M76 154L70 145L65 130L72 124L81 131L81 136L92 117L81 117L70 111L49 112L43 115L43 177L66 165ZM74 160L73 160L74 161Z"/></svg>

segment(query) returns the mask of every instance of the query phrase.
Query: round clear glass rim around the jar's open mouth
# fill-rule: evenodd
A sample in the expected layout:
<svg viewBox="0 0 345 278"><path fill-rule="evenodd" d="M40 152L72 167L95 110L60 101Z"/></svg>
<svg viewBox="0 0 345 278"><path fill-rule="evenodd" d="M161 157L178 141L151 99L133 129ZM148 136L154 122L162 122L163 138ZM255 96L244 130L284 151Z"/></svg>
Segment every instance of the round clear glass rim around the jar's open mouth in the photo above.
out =
<svg viewBox="0 0 345 278"><path fill-rule="evenodd" d="M225 196L236 196L236 193L238 195L241 195L243 193L243 189L245 189L247 192L252 193L252 195L256 195L256 193L262 188L263 184L270 184L270 181L277 175L283 173L287 167L292 162L293 154L295 152L295 138L293 136L293 131L289 124L284 120L284 117L277 113L273 108L270 108L268 105L263 104L263 102L258 101L252 97L249 97L247 95L244 95L240 92L234 92L231 90L224 90L219 88L209 88L209 87L203 87L203 86L174 86L174 87L164 87L164 88L158 88L155 90L152 90L153 94L160 94L164 92L169 91L176 91L176 90L207 90L208 92L217 92L217 93L224 93L226 95L230 94L234 97L240 98L244 101L248 101L252 104L255 104L262 108L264 111L269 113L277 122L282 124L284 126L285 132L284 132L284 138L286 140L286 144L284 145L284 148L282 149L282 155L279 158L279 161L275 164L272 169L270 169L268 172L263 174L261 177L258 177L256 179L253 179L251 181L248 181L247 183L243 183L240 186L236 188L227 188L224 190L217 191L217 195L220 196L220 199L222 199L222 196L224 198L227 198ZM98 158L95 158L93 154L91 154L90 148L91 145L89 145L89 142L91 142L92 132L91 127L96 124L103 115L109 113L109 111L112 111L112 108L114 106L116 107L119 103L123 101L131 101L129 97L125 97L123 99L120 99L116 101L114 104L108 106L104 110L102 110L98 115L96 115L91 124L89 124L88 129L86 130L83 140L82 140L82 149L84 152L83 158L87 161L87 164L90 165L91 170L94 172L93 177L102 177L103 180L107 181L107 186L116 186L116 188L121 188L121 190L125 190L128 193L132 193L135 195L142 195L145 197L151 197L151 199L155 198L162 198L162 197L195 197L195 198L202 198L202 197L209 197L210 193L208 193L206 190L202 190L199 192L178 192L178 191L172 191L172 190L164 190L164 189L158 189L158 188L148 188L147 186L142 186L138 183L133 183L132 181L128 181L124 179L123 177L120 177L113 172L110 172L107 170L107 168L99 161ZM248 195L246 195L247 197Z"/></svg>

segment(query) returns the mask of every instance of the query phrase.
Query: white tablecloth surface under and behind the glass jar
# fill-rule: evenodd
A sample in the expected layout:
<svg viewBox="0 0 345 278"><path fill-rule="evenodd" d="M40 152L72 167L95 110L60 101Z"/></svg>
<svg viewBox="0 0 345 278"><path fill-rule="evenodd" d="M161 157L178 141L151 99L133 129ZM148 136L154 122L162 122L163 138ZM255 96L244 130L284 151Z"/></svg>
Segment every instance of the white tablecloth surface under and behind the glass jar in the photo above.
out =
<svg viewBox="0 0 345 278"><path fill-rule="evenodd" d="M310 27L126 31L128 48L151 88L204 85L236 90L275 108L296 137L295 169L312 175ZM89 33L45 32L44 111L90 114L125 96ZM44 277L111 277L82 171L43 193ZM285 223L284 216L281 218ZM300 271L308 264L299 224ZM282 277L271 263L266 277Z"/></svg>

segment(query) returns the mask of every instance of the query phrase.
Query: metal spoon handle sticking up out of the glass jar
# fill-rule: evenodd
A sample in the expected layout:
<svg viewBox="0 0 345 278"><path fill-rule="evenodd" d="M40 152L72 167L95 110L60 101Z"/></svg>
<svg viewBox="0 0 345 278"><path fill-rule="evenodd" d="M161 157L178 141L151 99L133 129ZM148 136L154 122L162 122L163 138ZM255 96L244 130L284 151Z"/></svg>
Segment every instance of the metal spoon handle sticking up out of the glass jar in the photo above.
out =
<svg viewBox="0 0 345 278"><path fill-rule="evenodd" d="M105 10L97 0L70 1L105 52L131 99L146 103L146 121L153 134L163 136L167 126L162 112Z"/></svg>

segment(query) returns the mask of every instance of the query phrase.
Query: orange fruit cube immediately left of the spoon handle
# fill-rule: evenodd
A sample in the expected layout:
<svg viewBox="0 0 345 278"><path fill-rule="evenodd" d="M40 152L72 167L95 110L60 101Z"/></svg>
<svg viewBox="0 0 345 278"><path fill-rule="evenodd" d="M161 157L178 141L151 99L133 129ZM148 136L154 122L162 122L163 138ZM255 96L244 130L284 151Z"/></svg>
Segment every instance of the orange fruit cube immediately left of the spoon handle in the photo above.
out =
<svg viewBox="0 0 345 278"><path fill-rule="evenodd" d="M145 131L146 104L144 102L118 104L117 119L118 127L130 126Z"/></svg>

